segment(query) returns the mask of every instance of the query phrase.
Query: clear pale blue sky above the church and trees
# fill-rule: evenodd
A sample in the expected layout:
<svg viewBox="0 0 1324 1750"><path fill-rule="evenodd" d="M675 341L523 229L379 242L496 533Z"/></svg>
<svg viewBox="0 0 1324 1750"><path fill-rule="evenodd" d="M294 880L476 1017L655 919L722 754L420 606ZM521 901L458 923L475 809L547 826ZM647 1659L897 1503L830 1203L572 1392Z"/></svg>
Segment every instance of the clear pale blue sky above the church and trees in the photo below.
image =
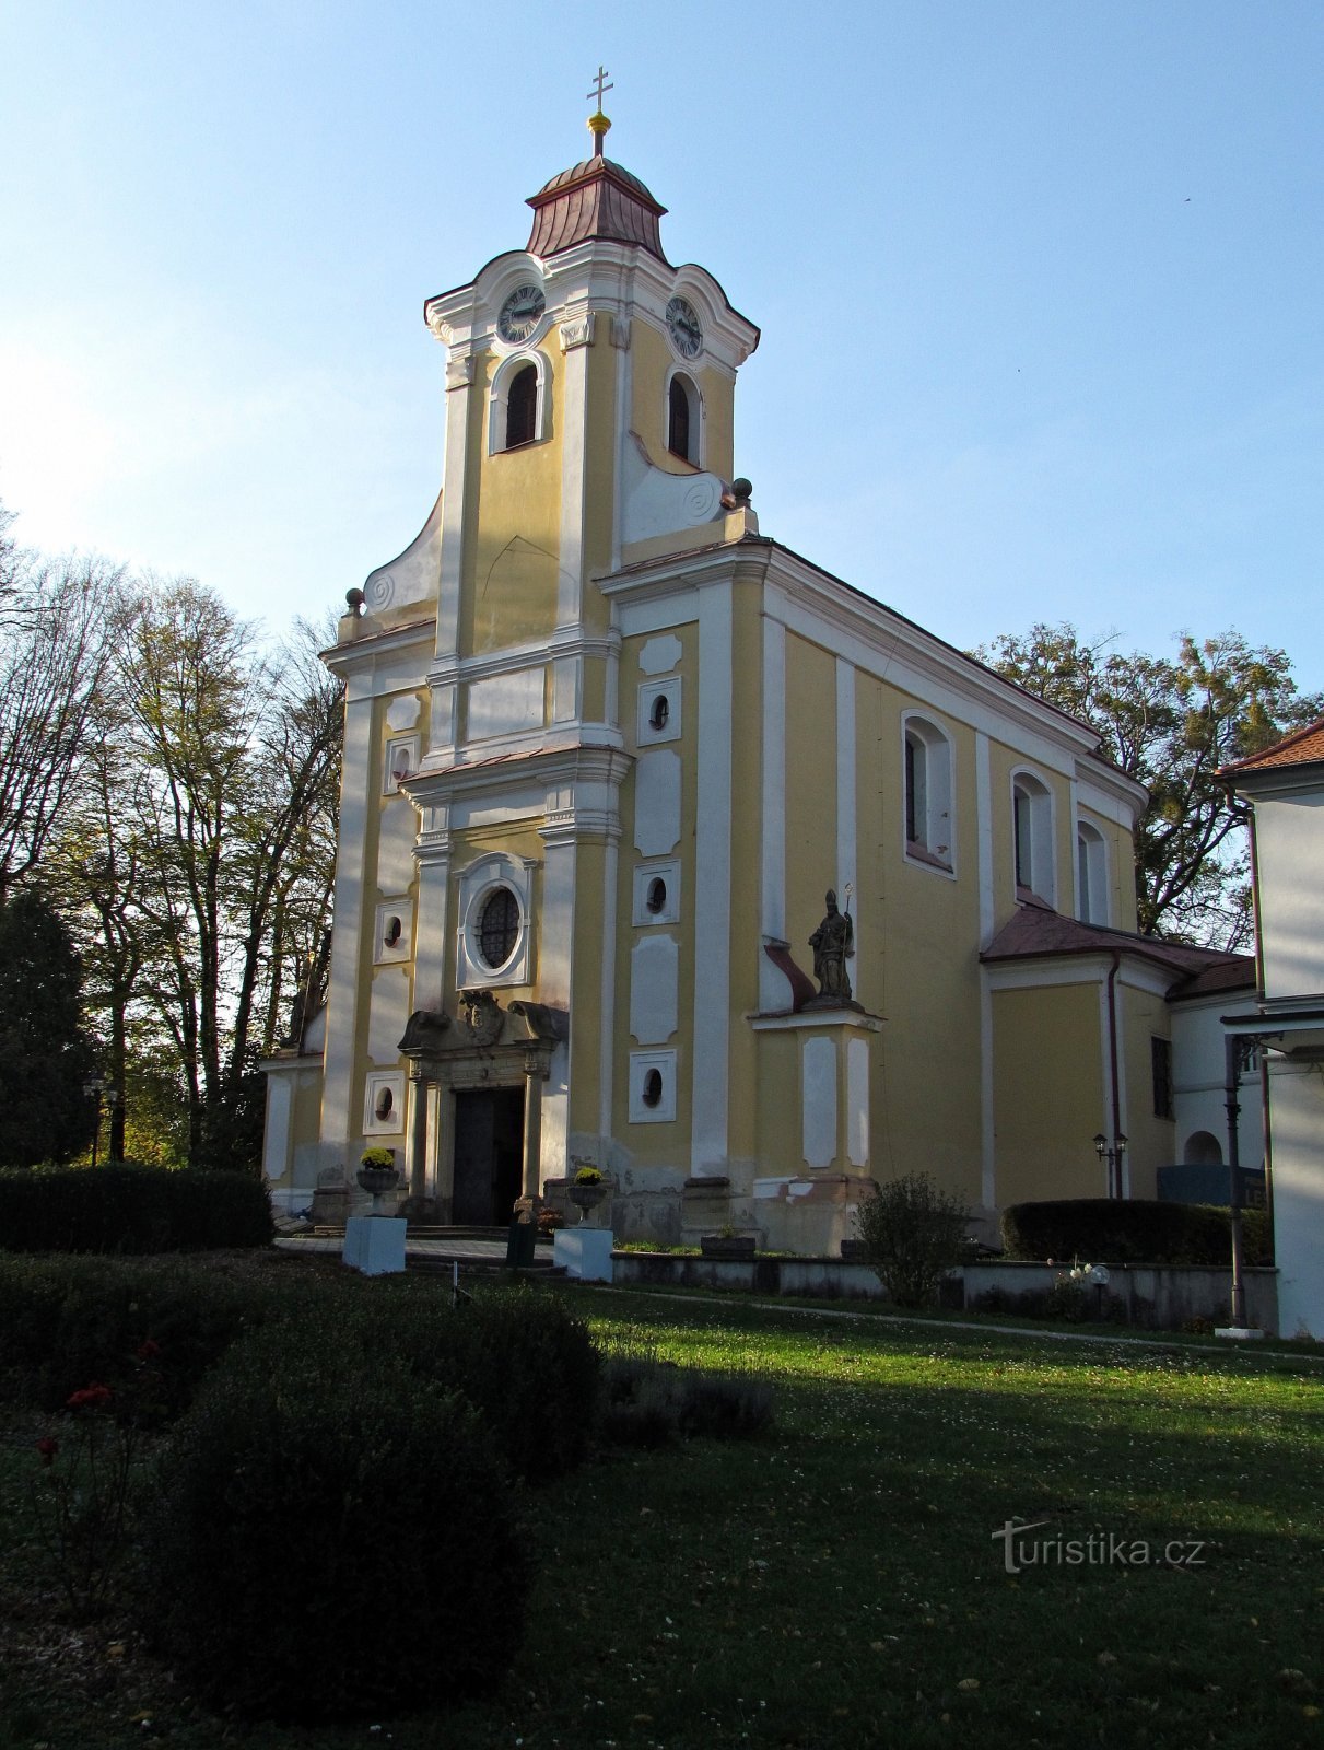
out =
<svg viewBox="0 0 1324 1750"><path fill-rule="evenodd" d="M610 156L763 343L764 534L969 646L1324 686L1324 5L0 0L0 499L280 630L422 525L430 292Z"/></svg>

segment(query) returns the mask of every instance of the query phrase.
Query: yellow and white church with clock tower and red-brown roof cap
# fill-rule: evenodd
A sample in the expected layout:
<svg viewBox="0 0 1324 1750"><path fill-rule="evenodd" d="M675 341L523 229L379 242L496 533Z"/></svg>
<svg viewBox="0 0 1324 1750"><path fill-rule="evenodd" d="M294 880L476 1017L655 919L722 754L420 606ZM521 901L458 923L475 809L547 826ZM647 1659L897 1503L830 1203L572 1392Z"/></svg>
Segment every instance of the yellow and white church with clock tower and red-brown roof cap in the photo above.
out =
<svg viewBox="0 0 1324 1750"><path fill-rule="evenodd" d="M425 306L444 476L325 653L331 980L264 1066L276 1202L373 1144L442 1225L593 1164L621 1237L820 1253L901 1172L988 1228L1154 1195L1154 1041L1200 962L1130 934L1144 791L759 530L735 450L759 332L595 145L525 248ZM838 999L812 976L829 889Z"/></svg>

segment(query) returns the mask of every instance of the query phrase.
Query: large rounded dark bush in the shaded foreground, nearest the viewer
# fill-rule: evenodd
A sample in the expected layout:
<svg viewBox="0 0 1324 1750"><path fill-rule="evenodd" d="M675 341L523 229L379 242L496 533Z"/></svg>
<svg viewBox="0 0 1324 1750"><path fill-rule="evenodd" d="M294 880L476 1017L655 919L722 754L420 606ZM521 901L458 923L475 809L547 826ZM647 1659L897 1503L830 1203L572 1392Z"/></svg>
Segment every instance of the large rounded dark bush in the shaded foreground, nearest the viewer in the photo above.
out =
<svg viewBox="0 0 1324 1750"><path fill-rule="evenodd" d="M528 1592L497 1446L456 1393L289 1328L231 1351L178 1423L140 1615L198 1694L345 1722L497 1682Z"/></svg>

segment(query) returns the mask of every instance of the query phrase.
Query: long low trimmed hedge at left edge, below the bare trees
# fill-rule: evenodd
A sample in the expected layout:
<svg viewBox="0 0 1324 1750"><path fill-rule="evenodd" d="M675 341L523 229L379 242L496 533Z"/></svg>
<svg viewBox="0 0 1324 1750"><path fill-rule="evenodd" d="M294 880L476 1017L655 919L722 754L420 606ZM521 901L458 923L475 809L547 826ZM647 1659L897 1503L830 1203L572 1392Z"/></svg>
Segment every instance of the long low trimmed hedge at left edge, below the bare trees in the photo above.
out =
<svg viewBox="0 0 1324 1750"><path fill-rule="evenodd" d="M0 1171L3 1251L205 1251L271 1236L271 1199L248 1172L133 1162Z"/></svg>

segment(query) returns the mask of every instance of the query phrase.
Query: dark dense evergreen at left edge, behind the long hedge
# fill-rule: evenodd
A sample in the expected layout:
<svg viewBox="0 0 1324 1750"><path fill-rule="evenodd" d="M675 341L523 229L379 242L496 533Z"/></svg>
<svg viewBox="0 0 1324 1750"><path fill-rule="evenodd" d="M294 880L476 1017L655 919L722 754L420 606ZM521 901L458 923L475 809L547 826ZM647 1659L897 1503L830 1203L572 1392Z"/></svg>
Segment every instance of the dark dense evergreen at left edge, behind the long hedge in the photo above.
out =
<svg viewBox="0 0 1324 1750"><path fill-rule="evenodd" d="M100 1108L82 1029L82 966L68 929L37 889L0 900L0 1164L72 1160Z"/></svg>

